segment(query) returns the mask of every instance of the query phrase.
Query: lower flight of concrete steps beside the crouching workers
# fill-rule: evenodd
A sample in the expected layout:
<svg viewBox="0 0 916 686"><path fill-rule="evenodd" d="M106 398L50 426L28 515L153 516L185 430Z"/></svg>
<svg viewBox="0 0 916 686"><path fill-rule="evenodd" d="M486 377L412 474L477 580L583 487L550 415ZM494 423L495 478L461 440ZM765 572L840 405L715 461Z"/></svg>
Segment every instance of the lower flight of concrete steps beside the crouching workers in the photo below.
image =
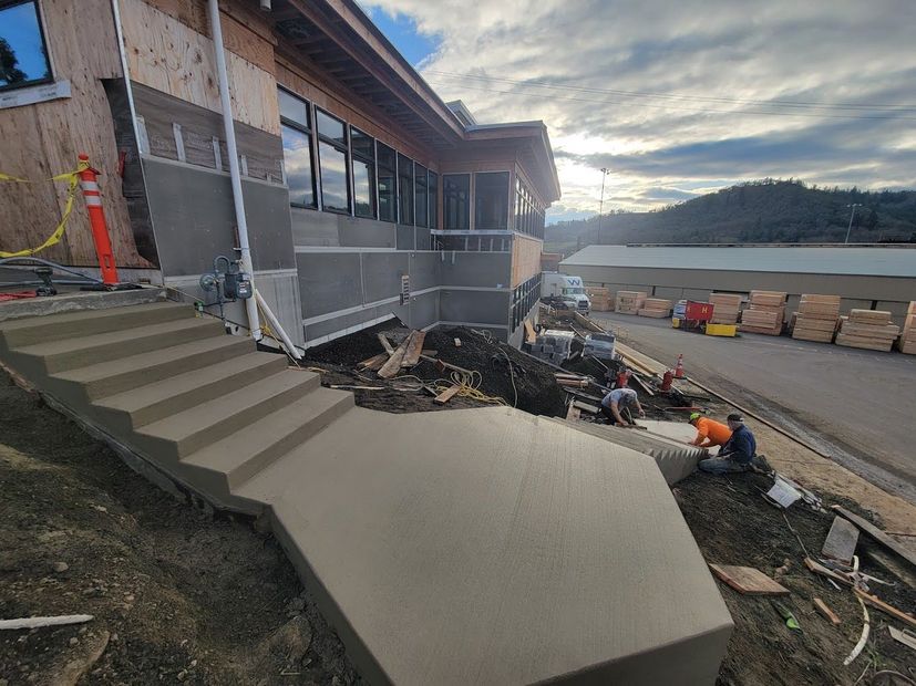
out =
<svg viewBox="0 0 916 686"><path fill-rule="evenodd" d="M640 429L628 429L591 422L572 419L550 419L590 436L613 444L631 448L655 459L661 476L669 486L686 479L697 469L697 462L706 457L700 448L688 446L685 441L666 438Z"/></svg>

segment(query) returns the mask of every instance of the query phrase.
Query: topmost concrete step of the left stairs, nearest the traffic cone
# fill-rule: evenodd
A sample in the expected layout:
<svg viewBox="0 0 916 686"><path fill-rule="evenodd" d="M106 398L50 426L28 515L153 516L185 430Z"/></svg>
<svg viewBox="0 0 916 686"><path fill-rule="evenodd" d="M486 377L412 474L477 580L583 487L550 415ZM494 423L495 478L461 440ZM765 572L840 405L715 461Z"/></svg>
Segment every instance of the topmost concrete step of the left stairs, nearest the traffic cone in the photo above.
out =
<svg viewBox="0 0 916 686"><path fill-rule="evenodd" d="M34 316L0 324L0 341L2 342L0 345L6 345L7 350L13 350L192 316L194 316L194 309L191 305L176 302Z"/></svg>

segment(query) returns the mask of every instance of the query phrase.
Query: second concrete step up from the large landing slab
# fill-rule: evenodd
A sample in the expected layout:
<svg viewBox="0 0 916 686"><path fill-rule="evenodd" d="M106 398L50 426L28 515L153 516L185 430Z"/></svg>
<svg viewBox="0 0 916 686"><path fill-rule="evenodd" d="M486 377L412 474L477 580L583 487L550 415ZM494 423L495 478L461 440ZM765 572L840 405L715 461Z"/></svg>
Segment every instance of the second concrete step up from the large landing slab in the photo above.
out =
<svg viewBox="0 0 916 686"><path fill-rule="evenodd" d="M284 371L147 424L135 433L134 443L156 460L179 460L289 405L319 384L318 374Z"/></svg>

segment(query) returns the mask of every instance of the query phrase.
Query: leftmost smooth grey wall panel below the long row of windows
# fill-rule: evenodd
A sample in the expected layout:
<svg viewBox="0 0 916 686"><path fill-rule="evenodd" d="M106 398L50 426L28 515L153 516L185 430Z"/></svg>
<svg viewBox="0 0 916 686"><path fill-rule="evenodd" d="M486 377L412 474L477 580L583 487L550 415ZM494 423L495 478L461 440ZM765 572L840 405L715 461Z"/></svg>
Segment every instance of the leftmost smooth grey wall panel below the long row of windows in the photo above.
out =
<svg viewBox="0 0 916 686"><path fill-rule="evenodd" d="M300 252L296 256L302 319L363 303L359 259L357 252Z"/></svg>

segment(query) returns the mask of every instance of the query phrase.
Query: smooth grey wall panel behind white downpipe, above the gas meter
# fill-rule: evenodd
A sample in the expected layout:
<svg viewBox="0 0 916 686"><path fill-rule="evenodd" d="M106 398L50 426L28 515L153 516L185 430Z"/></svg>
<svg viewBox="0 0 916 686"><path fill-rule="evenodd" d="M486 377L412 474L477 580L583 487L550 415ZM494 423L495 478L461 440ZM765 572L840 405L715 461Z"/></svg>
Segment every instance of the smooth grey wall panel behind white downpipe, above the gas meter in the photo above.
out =
<svg viewBox="0 0 916 686"><path fill-rule="evenodd" d="M233 258L237 240L228 174L150 157L143 164L163 273L198 274L212 269L217 254ZM243 193L255 269L294 269L286 188L243 179Z"/></svg>

